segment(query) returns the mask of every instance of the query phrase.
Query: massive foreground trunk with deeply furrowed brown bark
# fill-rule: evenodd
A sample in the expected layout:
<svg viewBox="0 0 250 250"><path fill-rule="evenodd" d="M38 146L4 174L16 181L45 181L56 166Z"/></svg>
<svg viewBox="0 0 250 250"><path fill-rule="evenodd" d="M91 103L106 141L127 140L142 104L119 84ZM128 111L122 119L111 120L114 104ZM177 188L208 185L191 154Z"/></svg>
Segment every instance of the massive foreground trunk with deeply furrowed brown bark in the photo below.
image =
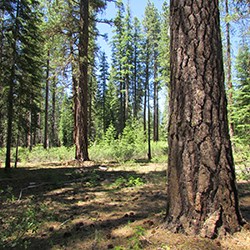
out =
<svg viewBox="0 0 250 250"><path fill-rule="evenodd" d="M215 238L242 217L228 132L218 0L170 3L167 225Z"/></svg>

